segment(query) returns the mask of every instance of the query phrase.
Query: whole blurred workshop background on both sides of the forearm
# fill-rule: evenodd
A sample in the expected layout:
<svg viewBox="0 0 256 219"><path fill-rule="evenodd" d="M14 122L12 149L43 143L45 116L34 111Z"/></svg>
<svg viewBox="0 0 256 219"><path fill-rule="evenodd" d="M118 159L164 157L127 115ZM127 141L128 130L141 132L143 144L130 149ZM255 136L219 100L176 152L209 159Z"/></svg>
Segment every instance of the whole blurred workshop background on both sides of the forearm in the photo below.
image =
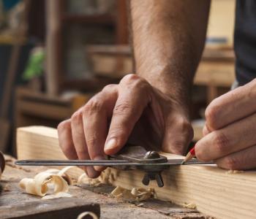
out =
<svg viewBox="0 0 256 219"><path fill-rule="evenodd" d="M207 104L235 79L235 2L211 1L192 93L194 141ZM56 127L129 73L125 0L0 0L0 150L15 155L16 128Z"/></svg>

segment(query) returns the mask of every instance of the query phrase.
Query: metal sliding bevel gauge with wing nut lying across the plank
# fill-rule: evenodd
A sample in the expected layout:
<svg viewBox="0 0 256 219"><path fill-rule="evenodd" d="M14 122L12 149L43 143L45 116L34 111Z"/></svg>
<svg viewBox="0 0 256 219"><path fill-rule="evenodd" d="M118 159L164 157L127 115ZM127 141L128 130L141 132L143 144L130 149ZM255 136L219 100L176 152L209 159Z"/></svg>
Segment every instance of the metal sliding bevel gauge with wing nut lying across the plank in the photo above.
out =
<svg viewBox="0 0 256 219"><path fill-rule="evenodd" d="M140 169L145 172L142 183L148 185L151 180L156 180L159 187L164 186L162 171L170 166L181 165L183 159L167 159L159 155L157 151L146 151L141 146L124 147L120 153L109 156L108 160L23 160L16 161L16 165L23 166L110 166L116 169L131 170ZM212 164L201 162L193 158L189 164Z"/></svg>

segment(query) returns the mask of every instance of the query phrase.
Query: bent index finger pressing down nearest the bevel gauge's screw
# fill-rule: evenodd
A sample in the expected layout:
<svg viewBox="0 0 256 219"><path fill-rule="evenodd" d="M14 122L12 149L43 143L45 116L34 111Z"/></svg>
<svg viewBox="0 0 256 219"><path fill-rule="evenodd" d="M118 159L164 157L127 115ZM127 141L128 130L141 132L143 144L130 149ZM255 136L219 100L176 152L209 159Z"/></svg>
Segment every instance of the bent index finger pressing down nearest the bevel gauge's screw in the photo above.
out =
<svg viewBox="0 0 256 219"><path fill-rule="evenodd" d="M149 88L148 82L135 74L129 74L121 80L105 143L106 154L118 152L127 142L132 128L151 99Z"/></svg>

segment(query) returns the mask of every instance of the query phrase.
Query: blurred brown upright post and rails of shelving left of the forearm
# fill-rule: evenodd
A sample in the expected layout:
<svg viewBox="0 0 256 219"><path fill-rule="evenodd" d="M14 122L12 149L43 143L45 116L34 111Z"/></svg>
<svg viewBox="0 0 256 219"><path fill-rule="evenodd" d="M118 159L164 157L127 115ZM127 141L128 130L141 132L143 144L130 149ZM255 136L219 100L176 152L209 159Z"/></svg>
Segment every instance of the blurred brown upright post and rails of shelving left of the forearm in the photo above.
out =
<svg viewBox="0 0 256 219"><path fill-rule="evenodd" d="M99 15L76 15L65 11L65 3L61 0L47 1L47 86L48 93L56 95L65 89L89 90L86 85L92 88L102 88L102 79L94 83L94 78L79 79L67 77L64 68L64 32L65 26L77 24L86 26L110 26L115 34L116 44L128 43L126 1L116 0L116 14ZM103 79L105 80L105 79ZM107 84L104 83L103 84Z"/></svg>

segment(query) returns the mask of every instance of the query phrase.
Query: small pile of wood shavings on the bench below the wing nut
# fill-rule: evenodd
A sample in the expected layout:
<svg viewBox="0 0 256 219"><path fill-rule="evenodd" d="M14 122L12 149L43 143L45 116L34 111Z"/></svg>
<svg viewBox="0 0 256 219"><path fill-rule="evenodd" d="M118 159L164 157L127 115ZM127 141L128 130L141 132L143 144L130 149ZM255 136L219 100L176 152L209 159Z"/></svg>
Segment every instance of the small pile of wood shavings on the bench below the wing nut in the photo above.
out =
<svg viewBox="0 0 256 219"><path fill-rule="evenodd" d="M124 200L144 201L155 196L154 188L132 188L132 190L117 186L111 195Z"/></svg>

